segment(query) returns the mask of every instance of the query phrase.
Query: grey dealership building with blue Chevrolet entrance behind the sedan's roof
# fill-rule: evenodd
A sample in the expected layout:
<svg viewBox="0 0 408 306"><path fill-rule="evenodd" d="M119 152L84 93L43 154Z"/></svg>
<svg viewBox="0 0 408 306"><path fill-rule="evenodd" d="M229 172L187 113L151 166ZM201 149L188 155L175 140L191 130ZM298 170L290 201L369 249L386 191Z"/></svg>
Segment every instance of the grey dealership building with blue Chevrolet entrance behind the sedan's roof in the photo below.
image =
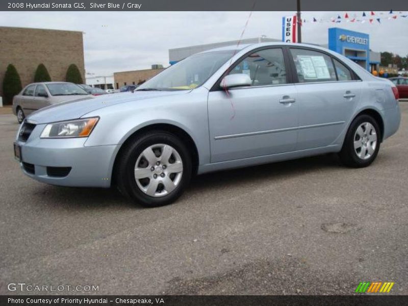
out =
<svg viewBox="0 0 408 306"><path fill-rule="evenodd" d="M169 64L175 64L186 57L189 57L190 55L213 48L237 45L238 43L247 44L259 42L282 42L282 39L266 38L263 36L243 39L241 41L234 40L170 49ZM344 55L369 71L378 70L380 64L380 53L370 50L370 36L368 34L340 28L330 28L328 29L327 44L322 44L320 46Z"/></svg>

